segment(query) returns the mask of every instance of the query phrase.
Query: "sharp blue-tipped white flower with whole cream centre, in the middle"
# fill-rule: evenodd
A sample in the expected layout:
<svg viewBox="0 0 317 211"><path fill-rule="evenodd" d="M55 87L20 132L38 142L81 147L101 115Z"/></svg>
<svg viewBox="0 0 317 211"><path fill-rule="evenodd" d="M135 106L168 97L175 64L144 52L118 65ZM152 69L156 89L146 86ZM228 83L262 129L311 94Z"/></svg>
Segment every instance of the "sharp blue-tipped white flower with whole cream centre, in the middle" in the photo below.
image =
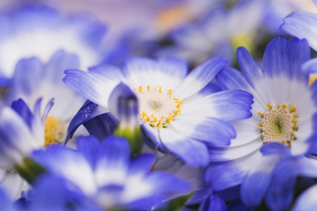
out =
<svg viewBox="0 0 317 211"><path fill-rule="evenodd" d="M251 116L252 95L241 90L215 93L208 85L225 63L222 58L213 58L187 73L182 59L137 57L127 60L122 69L101 65L90 72L66 70L64 82L109 109L116 108L111 105L116 102L109 100L110 93L124 82L137 96L144 134L188 165L207 165L208 147L226 146L235 137L227 121ZM122 92L125 96L125 89ZM86 115L75 118L76 122L87 120Z"/></svg>

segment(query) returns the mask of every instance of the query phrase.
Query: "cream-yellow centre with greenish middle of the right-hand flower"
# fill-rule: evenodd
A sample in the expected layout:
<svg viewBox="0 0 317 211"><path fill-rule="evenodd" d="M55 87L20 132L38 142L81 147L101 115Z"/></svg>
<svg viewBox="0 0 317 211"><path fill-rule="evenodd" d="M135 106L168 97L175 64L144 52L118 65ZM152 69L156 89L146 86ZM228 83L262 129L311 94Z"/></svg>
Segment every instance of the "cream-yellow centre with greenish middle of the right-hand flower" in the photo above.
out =
<svg viewBox="0 0 317 211"><path fill-rule="evenodd" d="M266 112L258 112L260 139L264 143L278 142L290 147L291 141L296 140L294 132L298 130L296 107L285 104L272 107L269 103L266 106Z"/></svg>

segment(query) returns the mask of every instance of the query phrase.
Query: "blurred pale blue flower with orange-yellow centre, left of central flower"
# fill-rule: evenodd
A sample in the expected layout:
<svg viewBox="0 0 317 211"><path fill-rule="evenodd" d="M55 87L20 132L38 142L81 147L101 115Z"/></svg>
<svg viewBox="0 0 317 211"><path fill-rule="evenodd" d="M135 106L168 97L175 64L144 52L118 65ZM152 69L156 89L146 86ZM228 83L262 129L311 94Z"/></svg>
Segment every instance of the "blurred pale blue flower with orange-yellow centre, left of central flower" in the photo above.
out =
<svg viewBox="0 0 317 211"><path fill-rule="evenodd" d="M80 61L73 54L56 52L48 63L38 58L22 59L18 62L12 77L11 89L5 96L5 103L22 98L32 108L42 98L42 110L52 98L54 106L45 122L45 145L63 143L67 126L85 99L69 89L63 82L64 70L79 67Z"/></svg>

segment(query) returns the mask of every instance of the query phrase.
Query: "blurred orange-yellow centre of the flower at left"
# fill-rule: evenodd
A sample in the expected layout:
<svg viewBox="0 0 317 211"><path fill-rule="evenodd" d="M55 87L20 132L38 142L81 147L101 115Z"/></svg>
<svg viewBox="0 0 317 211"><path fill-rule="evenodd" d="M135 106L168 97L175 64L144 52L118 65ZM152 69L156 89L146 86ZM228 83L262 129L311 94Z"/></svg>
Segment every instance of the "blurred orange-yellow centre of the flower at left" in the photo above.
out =
<svg viewBox="0 0 317 211"><path fill-rule="evenodd" d="M54 143L62 143L66 132L66 124L63 120L48 115L45 120L45 146Z"/></svg>

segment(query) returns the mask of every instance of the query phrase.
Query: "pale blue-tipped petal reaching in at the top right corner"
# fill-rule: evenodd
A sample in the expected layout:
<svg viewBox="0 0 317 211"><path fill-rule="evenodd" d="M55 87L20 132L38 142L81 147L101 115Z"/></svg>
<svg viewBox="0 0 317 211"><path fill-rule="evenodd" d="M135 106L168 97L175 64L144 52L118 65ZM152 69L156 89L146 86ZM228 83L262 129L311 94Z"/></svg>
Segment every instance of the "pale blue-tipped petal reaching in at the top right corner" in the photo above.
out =
<svg viewBox="0 0 317 211"><path fill-rule="evenodd" d="M317 50L316 25L317 14L297 11L283 19L280 29L287 34L296 36L300 39L307 39L309 46L314 50Z"/></svg>

